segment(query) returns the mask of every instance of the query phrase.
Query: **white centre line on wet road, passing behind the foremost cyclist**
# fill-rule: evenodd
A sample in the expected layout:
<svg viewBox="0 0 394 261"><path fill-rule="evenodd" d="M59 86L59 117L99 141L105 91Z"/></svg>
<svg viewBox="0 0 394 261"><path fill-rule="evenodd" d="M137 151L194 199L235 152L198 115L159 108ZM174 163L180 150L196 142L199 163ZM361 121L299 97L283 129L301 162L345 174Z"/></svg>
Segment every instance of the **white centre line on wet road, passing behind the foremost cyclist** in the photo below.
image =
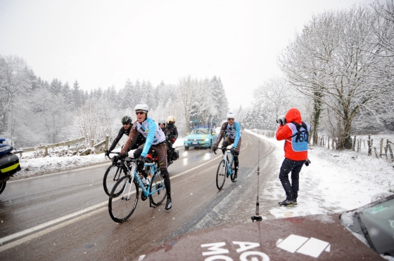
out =
<svg viewBox="0 0 394 261"><path fill-rule="evenodd" d="M189 169L189 170L186 170L186 171L184 171L184 172L182 172L182 173L179 173L179 174L177 174L177 175L174 175L174 176L171 177L170 179L177 178L177 177L179 177L180 175L184 175L184 174L186 174L186 173L188 173L188 172L190 172L190 171L192 171L192 170L195 170L196 168L201 168L202 166L204 166L204 165L210 163L211 161L214 161L215 159L220 158L220 157L222 157L222 155L219 155L219 156L215 157L214 159L210 159L209 161L207 161L207 162L205 162L205 163L203 163L203 164L201 164L201 165L199 165L199 166L196 166L196 167L191 168L191 169ZM82 210L80 210L80 211L77 211L77 212L75 212L75 213L71 213L70 215L65 215L64 217L56 218L56 220L51 220L51 221L46 222L46 223L44 223L44 224L42 224L42 225L37 225L37 226L32 227L32 228L30 228L30 229L25 229L25 230L23 230L23 231L21 231L21 232L17 232L17 233L15 233L15 234L11 234L11 235L9 235L9 236L4 236L3 238L0 239L0 245L2 245L2 244L3 244L4 242L6 242L6 241L10 241L10 240L12 240L12 239L16 239L16 238L18 238L18 237L20 237L20 236L24 236L25 234L30 234L30 233L32 233L32 232L36 232L36 231L39 230L39 229L44 229L45 227L49 227L49 226L54 225L54 224L56 224L56 223L58 223L58 222L63 222L64 220L67 220L67 219L69 219L69 218L75 217L75 216L77 216L77 215L81 215L81 214L86 213L86 212L91 211L91 210L94 210L95 208L99 208L99 207L101 207L101 206L105 206L106 204L108 204L108 201L104 201L104 202L98 203L98 204L96 204L96 205L94 205L94 206L91 206L91 207L89 207L89 208L84 208L84 209L82 209ZM1 247L0 247L0 252L1 252L1 251L4 251L4 250L7 250L7 249L9 249L9 248L13 248L14 246L18 246L19 244L25 243L26 241L35 239L35 238L38 237L38 236L42 236L42 233L47 234L47 233L52 232L52 231L54 231L54 230L56 230L56 229L60 229L60 228L62 228L62 227L65 227L66 225L72 224L72 223L75 222L76 220L82 220L82 219L84 219L85 217L91 216L93 213L98 213L98 212L102 211L103 209L108 209L108 208L100 208L100 209L95 210L95 211L93 211L93 212L91 212L91 213L87 213L86 215L82 215L82 216L80 216L80 217L76 217L75 219L68 220L68 221L65 221L65 222L63 222L63 223L61 223L61 224L55 225L55 226L53 226L53 227L50 227L49 229L45 229L45 230L43 230L42 232L37 232L37 233L31 234L30 236L26 236L26 237L23 238L23 239L18 239L17 241L8 243L8 244L6 244L5 246L1 246Z"/></svg>

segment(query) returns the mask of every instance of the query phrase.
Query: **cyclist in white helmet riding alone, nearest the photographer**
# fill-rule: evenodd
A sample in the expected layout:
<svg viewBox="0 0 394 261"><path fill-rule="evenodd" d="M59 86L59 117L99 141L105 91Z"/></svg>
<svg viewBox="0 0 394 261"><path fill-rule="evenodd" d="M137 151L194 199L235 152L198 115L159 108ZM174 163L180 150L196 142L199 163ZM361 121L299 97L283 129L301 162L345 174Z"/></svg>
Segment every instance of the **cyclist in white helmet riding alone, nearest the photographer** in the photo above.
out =
<svg viewBox="0 0 394 261"><path fill-rule="evenodd" d="M233 147L231 147L231 154L234 156L235 167L233 182L236 182L236 179L238 178L237 173L239 166L238 155L241 149L241 126L237 121L234 121L234 117L235 114L233 112L229 112L227 114L227 122L224 122L222 128L220 128L219 138L217 139L215 145L213 145L212 150L216 151L217 145L219 145L220 140L222 140L224 133L227 133L228 136L223 140L222 143L222 152L224 154L227 146L231 144L233 145Z"/></svg>

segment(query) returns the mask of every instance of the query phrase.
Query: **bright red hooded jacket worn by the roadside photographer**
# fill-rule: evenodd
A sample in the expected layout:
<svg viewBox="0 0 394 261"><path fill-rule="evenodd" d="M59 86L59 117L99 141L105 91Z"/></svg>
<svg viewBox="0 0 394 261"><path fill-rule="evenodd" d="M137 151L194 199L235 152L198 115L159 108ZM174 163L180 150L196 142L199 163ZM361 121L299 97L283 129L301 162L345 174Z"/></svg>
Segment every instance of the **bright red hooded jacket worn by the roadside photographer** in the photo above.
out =
<svg viewBox="0 0 394 261"><path fill-rule="evenodd" d="M285 119L287 124L284 126L279 125L276 135L277 140L286 140L284 142L284 157L292 161L305 161L307 159L307 151L295 152L291 147L291 135L293 135L293 131L291 131L291 128L288 126L288 123L291 123L291 121L295 121L299 124L302 123L300 111L296 108L289 109L288 112L286 112Z"/></svg>

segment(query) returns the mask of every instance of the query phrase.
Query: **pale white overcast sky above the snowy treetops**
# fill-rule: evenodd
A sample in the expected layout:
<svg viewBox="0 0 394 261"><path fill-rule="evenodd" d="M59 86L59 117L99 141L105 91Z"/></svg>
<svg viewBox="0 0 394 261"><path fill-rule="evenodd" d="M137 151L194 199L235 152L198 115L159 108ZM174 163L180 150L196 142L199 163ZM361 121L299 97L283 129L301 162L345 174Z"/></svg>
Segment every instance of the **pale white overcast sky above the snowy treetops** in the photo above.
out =
<svg viewBox="0 0 394 261"><path fill-rule="evenodd" d="M235 109L281 75L277 55L312 14L372 2L0 0L0 55L87 91L216 75Z"/></svg>

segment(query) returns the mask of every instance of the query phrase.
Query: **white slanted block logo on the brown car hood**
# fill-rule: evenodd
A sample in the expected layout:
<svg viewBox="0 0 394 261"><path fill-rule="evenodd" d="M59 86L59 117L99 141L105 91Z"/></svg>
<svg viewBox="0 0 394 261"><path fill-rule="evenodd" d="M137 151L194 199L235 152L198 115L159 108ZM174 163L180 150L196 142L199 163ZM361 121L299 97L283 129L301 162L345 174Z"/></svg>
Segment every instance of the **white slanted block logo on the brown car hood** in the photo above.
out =
<svg viewBox="0 0 394 261"><path fill-rule="evenodd" d="M283 250L286 250L290 253L300 253L303 255L310 255L311 257L319 257L320 254L324 250L326 252L330 251L330 243L326 241L322 241L320 239L314 239L311 237L308 239L305 236L296 236L291 234L288 236L286 239L283 241L279 239L280 241L277 242L277 247L281 248Z"/></svg>

